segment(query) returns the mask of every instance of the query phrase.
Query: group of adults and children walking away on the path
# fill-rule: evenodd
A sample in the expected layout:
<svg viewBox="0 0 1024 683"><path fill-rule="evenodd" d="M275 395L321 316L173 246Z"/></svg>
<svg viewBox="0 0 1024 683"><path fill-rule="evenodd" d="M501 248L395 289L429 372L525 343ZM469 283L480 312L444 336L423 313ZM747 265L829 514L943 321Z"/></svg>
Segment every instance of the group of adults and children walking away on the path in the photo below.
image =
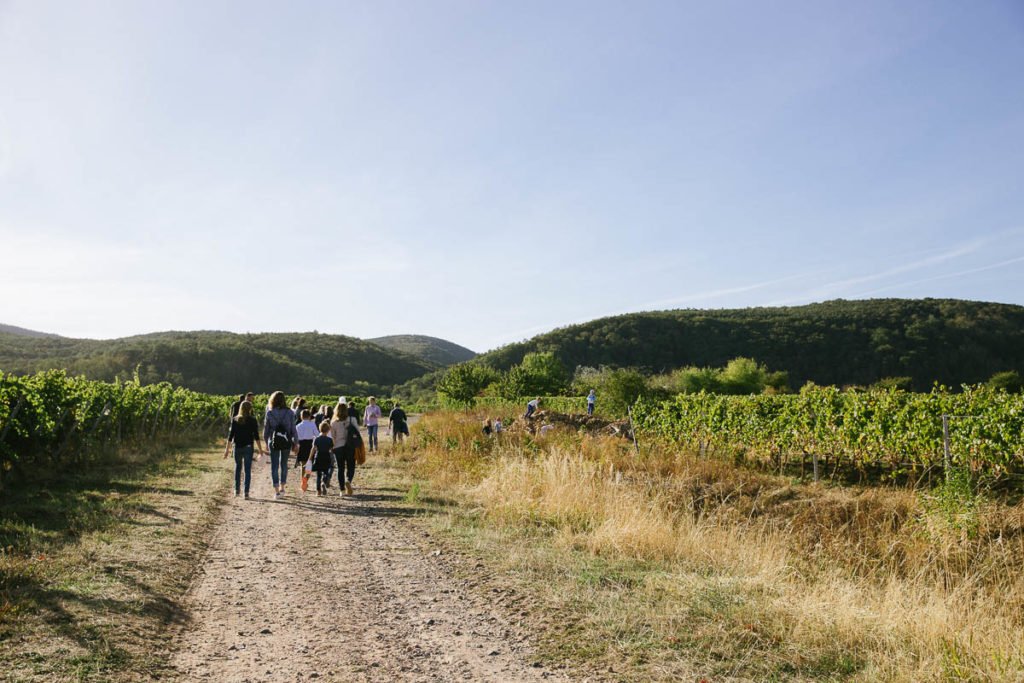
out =
<svg viewBox="0 0 1024 683"><path fill-rule="evenodd" d="M366 443L359 432L355 401L346 400L344 396L339 397L337 405L321 405L313 413L301 396L297 396L289 407L284 392L274 391L267 402L262 438L254 415L254 400L255 395L250 392L239 396L231 405L224 458L227 458L233 444L236 496L244 493L246 499L249 498L253 457L258 452L262 458L264 443L265 452L270 454L274 499L285 495L292 455L295 461L291 466L300 468L302 490L306 490L307 480L315 473L316 495L327 496L333 475L337 472L339 495L352 495L352 479L359 456L365 458L367 451L372 453L380 447L378 429L382 413L374 396L370 397L362 411L362 422L367 427ZM395 443L409 434L409 418L397 401L388 415L388 427Z"/></svg>

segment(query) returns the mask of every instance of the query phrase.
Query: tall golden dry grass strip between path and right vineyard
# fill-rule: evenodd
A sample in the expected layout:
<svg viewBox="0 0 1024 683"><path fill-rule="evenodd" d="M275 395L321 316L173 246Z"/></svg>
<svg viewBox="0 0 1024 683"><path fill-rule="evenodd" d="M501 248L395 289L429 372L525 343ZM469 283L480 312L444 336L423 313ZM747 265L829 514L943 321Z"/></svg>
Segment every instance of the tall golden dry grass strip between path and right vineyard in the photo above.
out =
<svg viewBox="0 0 1024 683"><path fill-rule="evenodd" d="M638 680L1024 680L1021 506L478 425L428 417L410 463L575 625L552 656Z"/></svg>

